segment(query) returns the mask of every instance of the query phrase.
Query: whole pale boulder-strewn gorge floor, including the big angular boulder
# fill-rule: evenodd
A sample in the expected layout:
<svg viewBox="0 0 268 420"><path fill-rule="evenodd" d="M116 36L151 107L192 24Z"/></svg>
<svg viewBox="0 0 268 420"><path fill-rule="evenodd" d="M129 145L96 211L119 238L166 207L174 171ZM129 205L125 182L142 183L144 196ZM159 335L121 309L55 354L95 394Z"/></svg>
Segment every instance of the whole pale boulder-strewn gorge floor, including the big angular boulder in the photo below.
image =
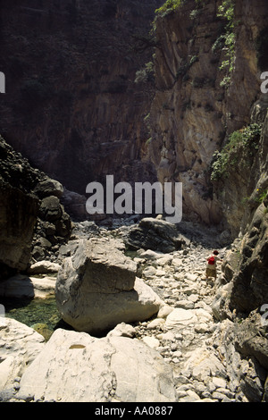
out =
<svg viewBox="0 0 268 420"><path fill-rule="evenodd" d="M253 340L250 320L219 319L217 292L222 290L224 300L234 250L222 248L215 242L221 236L211 238L211 231L198 231L193 223L182 223L180 231L158 219L114 224L109 231L92 222L75 223L58 265L32 265L32 276L57 273L53 290L65 326L45 340L4 319L0 399L267 401L265 339ZM138 248L136 241L131 248L133 230L145 224L177 230L180 247L163 253ZM204 274L215 243L224 260L216 281ZM258 314L256 323L261 336Z"/></svg>

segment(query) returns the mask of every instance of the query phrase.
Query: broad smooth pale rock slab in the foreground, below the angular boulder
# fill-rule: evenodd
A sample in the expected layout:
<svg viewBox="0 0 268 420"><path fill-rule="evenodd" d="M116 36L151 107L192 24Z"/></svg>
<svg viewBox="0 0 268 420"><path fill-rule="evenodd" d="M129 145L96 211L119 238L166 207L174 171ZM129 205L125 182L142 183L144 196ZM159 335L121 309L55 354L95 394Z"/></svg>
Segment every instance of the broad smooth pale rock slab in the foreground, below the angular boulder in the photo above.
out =
<svg viewBox="0 0 268 420"><path fill-rule="evenodd" d="M175 401L172 369L136 339L56 330L16 398L56 402Z"/></svg>

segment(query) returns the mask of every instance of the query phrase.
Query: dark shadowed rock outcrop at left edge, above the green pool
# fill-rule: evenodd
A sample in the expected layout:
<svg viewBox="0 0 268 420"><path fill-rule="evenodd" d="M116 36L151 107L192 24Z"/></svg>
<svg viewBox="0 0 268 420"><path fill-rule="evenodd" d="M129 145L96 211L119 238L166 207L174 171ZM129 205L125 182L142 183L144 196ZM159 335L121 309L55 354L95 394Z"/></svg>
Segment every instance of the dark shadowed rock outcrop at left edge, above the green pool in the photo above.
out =
<svg viewBox="0 0 268 420"><path fill-rule="evenodd" d="M32 256L43 259L52 244L69 238L62 194L59 182L31 167L0 137L0 279L25 271Z"/></svg>

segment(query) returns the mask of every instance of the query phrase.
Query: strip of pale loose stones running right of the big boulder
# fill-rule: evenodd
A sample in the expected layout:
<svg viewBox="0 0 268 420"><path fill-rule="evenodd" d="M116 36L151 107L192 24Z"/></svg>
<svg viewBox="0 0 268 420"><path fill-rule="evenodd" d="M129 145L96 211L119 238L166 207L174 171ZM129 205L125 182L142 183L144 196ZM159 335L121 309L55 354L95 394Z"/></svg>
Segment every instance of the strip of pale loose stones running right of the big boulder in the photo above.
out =
<svg viewBox="0 0 268 420"><path fill-rule="evenodd" d="M133 224L124 223L123 219L114 220L111 231L100 228L98 234L125 239ZM216 281L205 279L205 266L214 249L222 259L230 246L222 245L223 235L214 228L188 222L181 222L177 228L188 239L180 250L171 253L142 248L126 251L138 263L142 279L163 300L158 315L131 325L121 323L108 336L135 337L159 352L172 366L178 401L229 402L235 400L237 390L230 382L224 357L218 349L216 338L221 332L221 323L214 317L213 310L217 289L225 282L222 262L217 265ZM76 225L78 237L88 237L86 232L87 223ZM91 235L94 237L93 231Z"/></svg>

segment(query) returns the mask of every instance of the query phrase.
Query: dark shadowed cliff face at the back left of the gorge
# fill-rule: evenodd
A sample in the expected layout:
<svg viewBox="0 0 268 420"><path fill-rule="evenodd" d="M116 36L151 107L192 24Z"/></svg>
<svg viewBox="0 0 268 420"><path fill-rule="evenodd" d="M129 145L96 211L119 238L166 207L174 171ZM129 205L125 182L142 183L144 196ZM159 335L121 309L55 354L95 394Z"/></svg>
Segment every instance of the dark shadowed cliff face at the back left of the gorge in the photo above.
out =
<svg viewBox="0 0 268 420"><path fill-rule="evenodd" d="M67 189L114 174L148 180L144 117L152 86L135 83L151 60L159 0L1 2L1 132ZM135 47L138 46L138 51Z"/></svg>

